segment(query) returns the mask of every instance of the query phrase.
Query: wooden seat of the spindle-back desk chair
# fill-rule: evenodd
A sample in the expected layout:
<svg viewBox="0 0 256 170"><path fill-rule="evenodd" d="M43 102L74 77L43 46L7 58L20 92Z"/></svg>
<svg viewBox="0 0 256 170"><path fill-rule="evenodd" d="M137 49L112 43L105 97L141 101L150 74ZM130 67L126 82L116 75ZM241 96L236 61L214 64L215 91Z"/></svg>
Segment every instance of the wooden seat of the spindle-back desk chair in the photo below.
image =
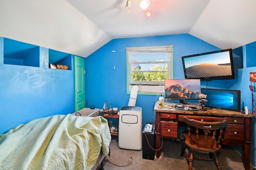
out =
<svg viewBox="0 0 256 170"><path fill-rule="evenodd" d="M183 132L183 135L186 139L189 138L188 136L188 131L184 131ZM192 141L192 144L190 144L189 140L185 140L185 144L189 147L189 148L192 148L196 151L200 151L200 152L218 152L218 150L221 149L221 146L218 145L218 147L216 147L216 140L214 140L214 144L212 146L212 148L210 148L210 144L211 144L211 141L212 141L212 136L208 136L207 138L207 141L206 141L206 147L204 148L204 138L205 138L205 135L204 134L198 134L198 141L199 141L199 144L198 144L198 147L196 146L196 135L191 135L191 141Z"/></svg>

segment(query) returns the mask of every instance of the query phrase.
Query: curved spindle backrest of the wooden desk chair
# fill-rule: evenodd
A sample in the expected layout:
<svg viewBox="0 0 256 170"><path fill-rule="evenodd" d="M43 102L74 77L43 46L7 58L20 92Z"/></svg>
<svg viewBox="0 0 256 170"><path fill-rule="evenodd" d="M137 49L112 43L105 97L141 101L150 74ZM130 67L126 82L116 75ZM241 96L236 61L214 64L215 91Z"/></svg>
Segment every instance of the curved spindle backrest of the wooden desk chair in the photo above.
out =
<svg viewBox="0 0 256 170"><path fill-rule="evenodd" d="M191 127L195 127L196 128L196 145L197 147L199 147L199 140L198 140L198 134L199 134L199 129L202 129L204 132L204 142L203 146L204 148L206 147L206 143L207 138L211 137L211 145L210 148L213 147L214 143L216 143L216 148L218 148L219 144L220 144L220 140L222 138L222 133L223 133L223 128L226 127L228 125L228 121L226 119L224 119L223 121L217 121L217 122L202 122L202 121L197 121L194 119L189 119L187 117L183 117L184 122L188 125L188 135L189 135L189 141L190 144L192 144L192 140L191 140ZM210 133L212 130L212 136L208 136L208 133ZM214 142L214 140L216 141L216 134L217 134L217 130L220 130L219 134L218 134L218 139L217 142Z"/></svg>

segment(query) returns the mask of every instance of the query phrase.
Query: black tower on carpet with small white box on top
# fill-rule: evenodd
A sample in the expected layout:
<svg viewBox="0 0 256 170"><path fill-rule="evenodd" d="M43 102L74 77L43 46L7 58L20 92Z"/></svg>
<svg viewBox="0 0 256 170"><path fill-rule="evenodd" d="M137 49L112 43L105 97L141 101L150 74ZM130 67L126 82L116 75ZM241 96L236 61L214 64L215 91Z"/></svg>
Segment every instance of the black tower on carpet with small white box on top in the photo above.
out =
<svg viewBox="0 0 256 170"><path fill-rule="evenodd" d="M156 149L156 137L155 137L156 123L147 122L146 124L148 123L152 124L152 132L151 133L144 132L144 129L142 131L142 158L154 160L155 150L153 149Z"/></svg>

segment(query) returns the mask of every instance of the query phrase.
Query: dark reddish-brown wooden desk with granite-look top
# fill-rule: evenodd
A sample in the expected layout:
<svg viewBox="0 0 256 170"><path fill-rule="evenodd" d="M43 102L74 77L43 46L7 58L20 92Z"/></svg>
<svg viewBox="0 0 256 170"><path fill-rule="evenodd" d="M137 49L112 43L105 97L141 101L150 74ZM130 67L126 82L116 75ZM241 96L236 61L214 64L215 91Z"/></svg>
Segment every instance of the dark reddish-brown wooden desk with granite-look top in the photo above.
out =
<svg viewBox="0 0 256 170"><path fill-rule="evenodd" d="M174 103L165 101L164 105L174 105ZM253 115L223 109L178 111L175 107L169 109L165 107L158 108L157 106L154 107L154 111L156 112L156 149L160 148L160 137L178 138L178 124L184 123L184 116L198 121L221 121L226 118L228 125L224 128L222 144L242 146L244 168L246 170L250 169L250 119L253 118ZM159 156L160 150L156 151L156 157L159 158Z"/></svg>

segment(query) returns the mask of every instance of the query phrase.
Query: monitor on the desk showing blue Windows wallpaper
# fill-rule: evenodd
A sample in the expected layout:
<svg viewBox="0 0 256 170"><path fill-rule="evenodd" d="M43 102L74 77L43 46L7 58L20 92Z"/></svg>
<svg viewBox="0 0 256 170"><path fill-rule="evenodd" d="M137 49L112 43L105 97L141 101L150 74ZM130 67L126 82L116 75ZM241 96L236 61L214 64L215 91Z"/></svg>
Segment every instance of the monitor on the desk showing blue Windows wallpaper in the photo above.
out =
<svg viewBox="0 0 256 170"><path fill-rule="evenodd" d="M201 92L207 95L206 107L240 111L240 90L202 88Z"/></svg>

